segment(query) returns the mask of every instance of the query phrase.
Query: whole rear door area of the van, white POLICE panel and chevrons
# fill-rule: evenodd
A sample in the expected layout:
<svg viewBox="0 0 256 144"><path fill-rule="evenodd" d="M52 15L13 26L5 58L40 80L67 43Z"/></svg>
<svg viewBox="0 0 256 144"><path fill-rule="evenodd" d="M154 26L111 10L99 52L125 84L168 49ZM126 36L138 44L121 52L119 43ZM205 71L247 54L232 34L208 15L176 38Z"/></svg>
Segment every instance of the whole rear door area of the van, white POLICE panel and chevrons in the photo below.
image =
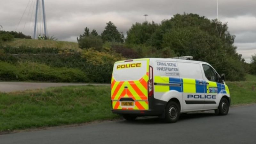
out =
<svg viewBox="0 0 256 144"><path fill-rule="evenodd" d="M111 79L113 109L148 110L149 59L118 61Z"/></svg>

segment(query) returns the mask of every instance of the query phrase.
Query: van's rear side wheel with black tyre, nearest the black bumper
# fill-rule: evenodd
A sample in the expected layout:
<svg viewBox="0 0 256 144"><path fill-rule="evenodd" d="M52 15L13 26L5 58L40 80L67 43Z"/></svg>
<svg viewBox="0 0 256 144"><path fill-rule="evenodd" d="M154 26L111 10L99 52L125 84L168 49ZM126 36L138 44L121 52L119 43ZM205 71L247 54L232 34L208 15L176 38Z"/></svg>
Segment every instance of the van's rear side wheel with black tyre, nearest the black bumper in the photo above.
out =
<svg viewBox="0 0 256 144"><path fill-rule="evenodd" d="M170 101L165 108L165 121L167 123L175 123L180 117L180 106L174 102Z"/></svg>

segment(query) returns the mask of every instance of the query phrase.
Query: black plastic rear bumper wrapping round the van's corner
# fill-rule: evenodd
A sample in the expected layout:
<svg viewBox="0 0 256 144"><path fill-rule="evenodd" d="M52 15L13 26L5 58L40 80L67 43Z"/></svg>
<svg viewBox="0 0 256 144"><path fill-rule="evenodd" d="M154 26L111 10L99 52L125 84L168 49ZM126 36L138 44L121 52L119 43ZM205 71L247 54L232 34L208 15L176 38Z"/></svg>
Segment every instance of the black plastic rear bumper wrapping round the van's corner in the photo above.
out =
<svg viewBox="0 0 256 144"><path fill-rule="evenodd" d="M155 98L148 98L148 110L123 110L111 109L112 113L119 115L137 115L137 116L161 116L164 113L167 102L157 100Z"/></svg>

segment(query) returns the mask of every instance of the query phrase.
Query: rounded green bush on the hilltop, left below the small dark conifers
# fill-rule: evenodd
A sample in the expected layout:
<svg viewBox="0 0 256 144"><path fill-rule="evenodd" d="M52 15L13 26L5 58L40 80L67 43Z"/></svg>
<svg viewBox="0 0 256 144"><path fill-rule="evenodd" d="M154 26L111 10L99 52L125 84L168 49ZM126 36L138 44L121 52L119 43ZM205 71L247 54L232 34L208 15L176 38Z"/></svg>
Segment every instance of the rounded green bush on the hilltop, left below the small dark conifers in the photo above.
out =
<svg viewBox="0 0 256 144"><path fill-rule="evenodd" d="M82 49L95 48L97 51L102 50L102 39L97 36L85 36L79 42L79 47Z"/></svg>

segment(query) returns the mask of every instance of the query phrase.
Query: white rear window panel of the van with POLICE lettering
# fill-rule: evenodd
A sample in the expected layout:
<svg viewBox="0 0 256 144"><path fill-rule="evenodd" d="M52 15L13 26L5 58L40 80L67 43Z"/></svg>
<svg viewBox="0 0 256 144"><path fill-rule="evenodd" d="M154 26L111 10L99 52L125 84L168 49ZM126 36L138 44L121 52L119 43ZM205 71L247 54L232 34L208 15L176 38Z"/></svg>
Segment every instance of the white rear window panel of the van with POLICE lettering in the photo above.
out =
<svg viewBox="0 0 256 144"><path fill-rule="evenodd" d="M139 80L147 74L147 60L116 62L113 77L116 81Z"/></svg>

